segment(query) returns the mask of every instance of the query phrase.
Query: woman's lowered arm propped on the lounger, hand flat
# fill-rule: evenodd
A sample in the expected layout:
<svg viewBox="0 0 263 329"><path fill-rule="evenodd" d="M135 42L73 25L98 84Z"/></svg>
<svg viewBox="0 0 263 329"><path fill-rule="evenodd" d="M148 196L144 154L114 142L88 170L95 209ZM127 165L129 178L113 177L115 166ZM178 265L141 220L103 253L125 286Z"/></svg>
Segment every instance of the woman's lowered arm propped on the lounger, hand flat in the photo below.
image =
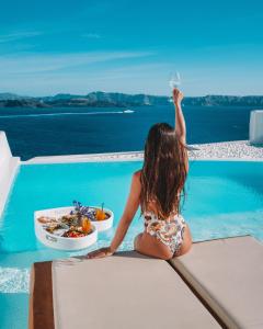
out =
<svg viewBox="0 0 263 329"><path fill-rule="evenodd" d="M117 250L119 245L123 242L126 232L129 228L129 225L139 207L139 196L140 196L140 181L139 181L139 174L137 172L134 173L133 175L129 196L127 198L123 216L118 223L111 246L92 251L87 254L87 258L102 258L102 257L111 256Z"/></svg>

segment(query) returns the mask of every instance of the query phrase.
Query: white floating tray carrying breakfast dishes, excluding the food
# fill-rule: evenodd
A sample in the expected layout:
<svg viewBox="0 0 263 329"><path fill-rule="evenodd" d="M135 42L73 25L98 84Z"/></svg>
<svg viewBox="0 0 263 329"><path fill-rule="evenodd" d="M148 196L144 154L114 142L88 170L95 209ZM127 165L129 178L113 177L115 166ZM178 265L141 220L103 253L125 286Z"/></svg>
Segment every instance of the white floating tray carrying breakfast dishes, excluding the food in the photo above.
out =
<svg viewBox="0 0 263 329"><path fill-rule="evenodd" d="M99 207L90 206L89 209L98 209ZM103 231L112 227L113 225L113 212L104 208L104 213L107 218L103 220L91 220L91 231L82 237L64 237L62 235L68 230L67 228L59 228L53 232L48 231L47 223L39 222L42 217L54 218L54 223L60 223L59 218L69 215L75 207L60 207L52 209L43 209L34 213L35 235L37 239L47 247L59 250L80 250L90 247L98 239L98 231ZM58 222L55 222L58 220ZM66 225L65 225L66 226Z"/></svg>

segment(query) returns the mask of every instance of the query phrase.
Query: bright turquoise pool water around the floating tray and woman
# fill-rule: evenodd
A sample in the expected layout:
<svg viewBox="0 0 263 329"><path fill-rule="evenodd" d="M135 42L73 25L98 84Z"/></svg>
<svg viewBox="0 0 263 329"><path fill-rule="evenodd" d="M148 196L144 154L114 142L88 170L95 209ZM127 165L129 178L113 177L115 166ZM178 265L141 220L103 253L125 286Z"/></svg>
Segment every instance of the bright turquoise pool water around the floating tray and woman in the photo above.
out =
<svg viewBox="0 0 263 329"><path fill-rule="evenodd" d="M115 228L132 173L140 168L140 161L21 166L0 220L0 328L26 328L32 262L77 254L36 240L34 211L71 205L72 200L104 202L115 214ZM186 192L183 215L194 240L250 234L263 241L263 162L192 161ZM82 253L107 245L114 228ZM141 229L138 212L121 249L132 249Z"/></svg>

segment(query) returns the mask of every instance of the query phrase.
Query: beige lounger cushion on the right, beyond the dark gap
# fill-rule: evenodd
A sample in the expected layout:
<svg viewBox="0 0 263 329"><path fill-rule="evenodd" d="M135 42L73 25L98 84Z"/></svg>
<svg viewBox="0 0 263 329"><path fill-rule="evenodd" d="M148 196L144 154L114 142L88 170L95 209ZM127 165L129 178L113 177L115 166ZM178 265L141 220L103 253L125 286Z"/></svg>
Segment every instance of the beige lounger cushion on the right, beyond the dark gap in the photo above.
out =
<svg viewBox="0 0 263 329"><path fill-rule="evenodd" d="M263 246L250 236L194 243L170 261L228 328L263 328Z"/></svg>

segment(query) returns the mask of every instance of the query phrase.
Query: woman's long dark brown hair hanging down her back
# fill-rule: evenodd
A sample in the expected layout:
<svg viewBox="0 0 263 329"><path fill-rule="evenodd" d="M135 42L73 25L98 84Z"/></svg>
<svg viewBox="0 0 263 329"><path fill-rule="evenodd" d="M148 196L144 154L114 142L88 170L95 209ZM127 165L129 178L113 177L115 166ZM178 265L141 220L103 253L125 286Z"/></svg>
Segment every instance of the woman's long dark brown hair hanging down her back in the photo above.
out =
<svg viewBox="0 0 263 329"><path fill-rule="evenodd" d="M180 198L187 175L186 163L186 147L179 140L174 128L167 123L153 125L146 140L140 174L142 213L153 202L159 218L180 214Z"/></svg>

